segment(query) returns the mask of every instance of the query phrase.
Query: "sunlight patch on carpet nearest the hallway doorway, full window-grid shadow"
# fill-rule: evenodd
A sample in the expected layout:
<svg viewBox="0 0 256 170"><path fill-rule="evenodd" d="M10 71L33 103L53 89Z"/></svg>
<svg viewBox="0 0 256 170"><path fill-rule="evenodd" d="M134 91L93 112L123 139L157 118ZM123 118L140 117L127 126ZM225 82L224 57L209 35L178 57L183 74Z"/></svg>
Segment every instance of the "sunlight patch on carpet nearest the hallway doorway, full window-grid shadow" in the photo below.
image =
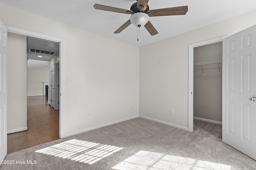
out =
<svg viewBox="0 0 256 170"><path fill-rule="evenodd" d="M36 150L35 152L93 164L122 149L121 147L72 139L44 149Z"/></svg>

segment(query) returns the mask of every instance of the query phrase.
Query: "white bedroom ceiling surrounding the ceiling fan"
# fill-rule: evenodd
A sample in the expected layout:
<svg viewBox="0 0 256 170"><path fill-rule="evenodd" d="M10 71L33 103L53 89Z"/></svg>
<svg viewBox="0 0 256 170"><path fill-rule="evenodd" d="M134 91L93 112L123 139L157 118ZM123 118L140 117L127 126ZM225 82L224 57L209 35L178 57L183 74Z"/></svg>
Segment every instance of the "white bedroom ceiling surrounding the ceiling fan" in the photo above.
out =
<svg viewBox="0 0 256 170"><path fill-rule="evenodd" d="M141 27L137 41L137 28L132 24L114 34L129 20L130 14L95 10L93 7L102 4L130 10L134 2L136 0L0 0L2 4L138 47L256 10L256 0L149 0L151 10L187 5L188 12L182 16L150 17L159 33L151 36Z"/></svg>

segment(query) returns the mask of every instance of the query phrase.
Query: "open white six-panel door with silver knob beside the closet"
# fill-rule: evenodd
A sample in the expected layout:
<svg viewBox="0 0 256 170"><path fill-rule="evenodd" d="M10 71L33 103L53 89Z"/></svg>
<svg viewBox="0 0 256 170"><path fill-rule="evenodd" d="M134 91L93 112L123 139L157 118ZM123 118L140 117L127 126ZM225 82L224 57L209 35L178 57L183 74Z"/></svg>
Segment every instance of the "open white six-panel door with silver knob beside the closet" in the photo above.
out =
<svg viewBox="0 0 256 170"><path fill-rule="evenodd" d="M223 39L222 78L222 141L256 160L256 25Z"/></svg>

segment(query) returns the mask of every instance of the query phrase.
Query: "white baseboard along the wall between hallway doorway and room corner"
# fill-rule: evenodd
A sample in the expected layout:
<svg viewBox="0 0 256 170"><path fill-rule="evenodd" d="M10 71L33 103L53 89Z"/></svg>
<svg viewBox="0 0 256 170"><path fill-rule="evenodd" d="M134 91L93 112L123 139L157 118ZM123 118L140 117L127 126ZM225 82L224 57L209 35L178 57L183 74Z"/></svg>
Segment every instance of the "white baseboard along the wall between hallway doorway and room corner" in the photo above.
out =
<svg viewBox="0 0 256 170"><path fill-rule="evenodd" d="M86 128L86 129L82 129L82 130L79 130L79 131L72 132L72 133L64 134L62 138L70 137L70 136L73 136L73 135L77 135L79 133L84 133L84 132L91 131L91 130L94 130L94 129L98 129L98 128L101 128L101 127L105 127L105 126L108 126L108 125L113 125L113 124L116 124L116 123L120 123L122 121L127 121L127 120L130 120L130 119L134 119L134 118L137 118L137 117L139 117L139 115L132 116L132 117L127 117L127 118L124 118L124 119L120 119L120 120L117 120L117 121L112 121L112 122L105 123L105 124L98 125L98 126L94 126L94 127L89 127L89 128Z"/></svg>

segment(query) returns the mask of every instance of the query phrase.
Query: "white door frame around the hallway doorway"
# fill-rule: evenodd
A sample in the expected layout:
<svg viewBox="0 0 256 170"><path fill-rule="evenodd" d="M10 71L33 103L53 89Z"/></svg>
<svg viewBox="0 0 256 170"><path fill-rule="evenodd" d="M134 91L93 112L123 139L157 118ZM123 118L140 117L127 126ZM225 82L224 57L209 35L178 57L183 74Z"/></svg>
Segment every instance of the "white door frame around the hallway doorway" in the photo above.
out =
<svg viewBox="0 0 256 170"><path fill-rule="evenodd" d="M54 37L51 35L46 35L46 34L42 34L42 33L37 33L34 31L28 31L25 29L20 29L17 27L12 27L12 26L8 26L5 25L7 28L7 32L10 33L15 33L15 34L19 34L19 35L25 35L25 36L29 36L29 37L35 37L35 38L40 38L40 39L44 39L44 40L48 40L48 41L54 41L54 42L58 42L60 45L60 91L59 91L59 97L60 97L60 111L59 111L59 137L60 139L64 137L63 134L63 115L64 115L64 39L62 38L58 38L58 37Z"/></svg>

